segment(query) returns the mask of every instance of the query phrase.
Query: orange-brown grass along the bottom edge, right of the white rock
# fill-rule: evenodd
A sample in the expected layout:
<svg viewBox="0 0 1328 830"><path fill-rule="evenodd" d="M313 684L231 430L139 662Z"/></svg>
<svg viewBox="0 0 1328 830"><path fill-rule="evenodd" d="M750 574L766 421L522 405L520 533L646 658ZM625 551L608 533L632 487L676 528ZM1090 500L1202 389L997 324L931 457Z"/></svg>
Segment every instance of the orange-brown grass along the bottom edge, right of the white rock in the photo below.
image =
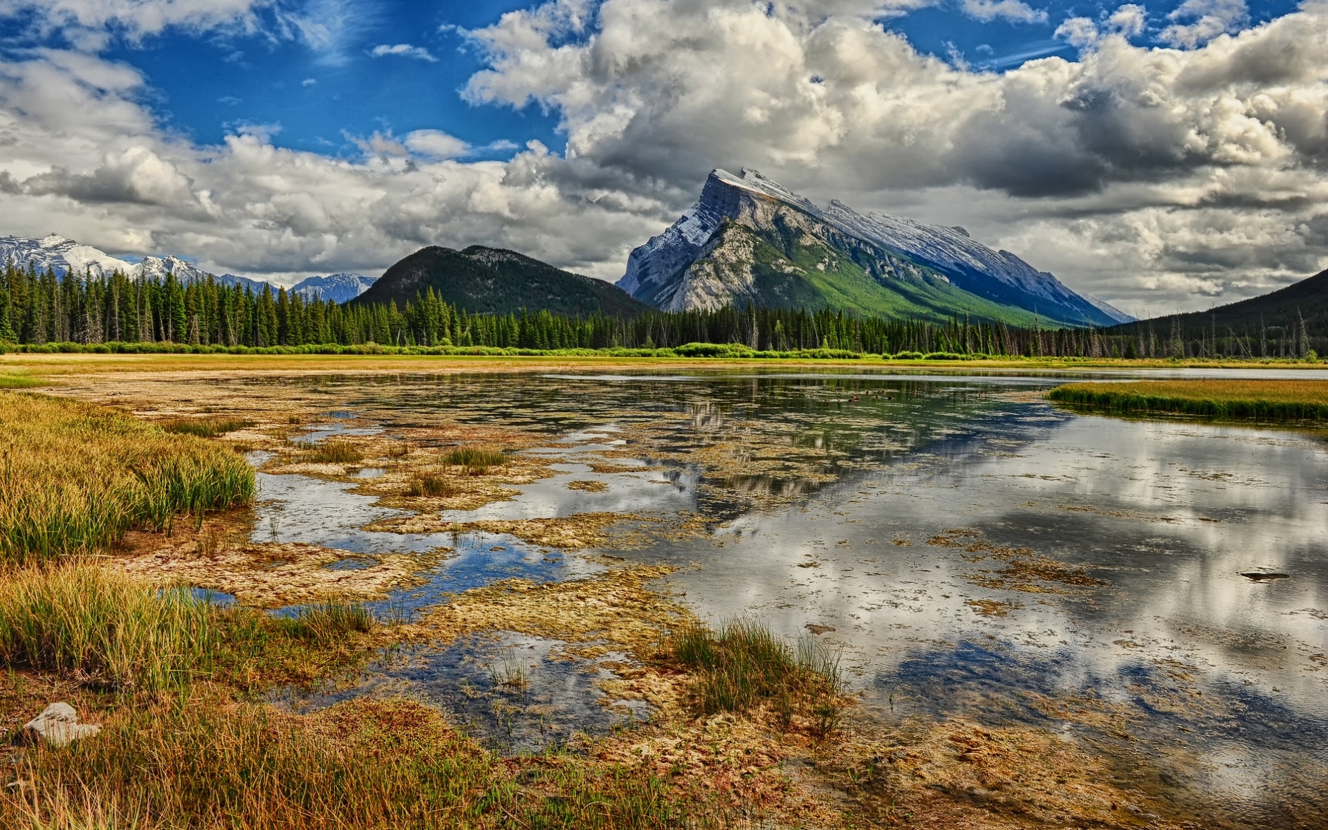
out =
<svg viewBox="0 0 1328 830"><path fill-rule="evenodd" d="M295 716L194 700L122 710L97 740L28 754L16 772L31 784L0 791L0 818L42 830L696 826L639 769L547 757L523 788L509 765L413 701Z"/></svg>

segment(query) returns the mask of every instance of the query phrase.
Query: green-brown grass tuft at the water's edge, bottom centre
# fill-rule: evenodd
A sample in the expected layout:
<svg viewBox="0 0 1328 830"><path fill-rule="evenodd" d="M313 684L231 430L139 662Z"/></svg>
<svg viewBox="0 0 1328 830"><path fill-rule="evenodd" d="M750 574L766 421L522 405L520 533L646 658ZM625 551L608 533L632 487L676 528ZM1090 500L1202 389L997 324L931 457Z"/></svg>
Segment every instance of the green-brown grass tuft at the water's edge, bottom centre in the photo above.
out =
<svg viewBox="0 0 1328 830"><path fill-rule="evenodd" d="M839 725L839 659L819 640L790 645L758 623L733 620L718 629L680 628L661 651L696 675L692 699L701 714L768 705L785 726L803 718L822 737Z"/></svg>

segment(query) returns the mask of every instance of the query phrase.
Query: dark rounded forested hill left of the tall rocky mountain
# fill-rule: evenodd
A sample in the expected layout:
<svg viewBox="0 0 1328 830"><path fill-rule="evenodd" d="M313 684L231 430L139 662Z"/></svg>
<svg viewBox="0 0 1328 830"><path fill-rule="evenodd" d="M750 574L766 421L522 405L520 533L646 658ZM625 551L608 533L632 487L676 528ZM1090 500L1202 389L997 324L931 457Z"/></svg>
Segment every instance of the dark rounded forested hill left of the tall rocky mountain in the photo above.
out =
<svg viewBox="0 0 1328 830"><path fill-rule="evenodd" d="M384 271L356 301L396 301L397 308L404 308L426 288L470 312L514 313L526 308L564 315L636 315L648 309L603 280L478 244L462 251L421 248Z"/></svg>

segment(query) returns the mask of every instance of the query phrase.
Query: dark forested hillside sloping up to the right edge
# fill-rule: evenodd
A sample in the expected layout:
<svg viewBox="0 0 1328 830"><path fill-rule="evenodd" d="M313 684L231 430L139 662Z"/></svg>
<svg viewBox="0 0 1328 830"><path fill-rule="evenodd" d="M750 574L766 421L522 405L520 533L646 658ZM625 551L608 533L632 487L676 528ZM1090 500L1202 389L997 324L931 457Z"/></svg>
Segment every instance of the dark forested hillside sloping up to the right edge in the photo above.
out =
<svg viewBox="0 0 1328 830"><path fill-rule="evenodd" d="M1301 357L1328 337L1328 271L1262 296L1106 329L1106 335L1151 335L1190 344L1199 357Z"/></svg>

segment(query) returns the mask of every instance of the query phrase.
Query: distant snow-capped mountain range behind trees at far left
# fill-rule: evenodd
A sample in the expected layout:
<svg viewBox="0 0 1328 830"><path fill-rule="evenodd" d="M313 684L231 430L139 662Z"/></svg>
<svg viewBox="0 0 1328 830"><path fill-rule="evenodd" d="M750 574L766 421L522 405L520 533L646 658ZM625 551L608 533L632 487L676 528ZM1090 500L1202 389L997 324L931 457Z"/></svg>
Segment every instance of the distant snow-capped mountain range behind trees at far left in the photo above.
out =
<svg viewBox="0 0 1328 830"><path fill-rule="evenodd" d="M174 274L181 282L193 282L212 276L226 286L247 286L258 292L264 283L247 276L234 274L212 275L198 268L190 262L178 256L145 256L142 262L131 263L117 259L105 251L88 244L80 244L73 239L65 239L58 234L50 234L41 239L27 239L24 236L0 236L0 263L13 260L15 266L27 268L28 263L36 264L37 270L45 271L48 267L56 274L86 274L92 271L94 276L104 276L113 271L120 271L130 278L165 279L167 274ZM299 293L304 299L313 299L319 295L324 300L344 303L352 300L365 288L373 284L373 278L359 274L332 274L331 276L308 276L290 288L292 293ZM279 286L272 284L272 291Z"/></svg>

